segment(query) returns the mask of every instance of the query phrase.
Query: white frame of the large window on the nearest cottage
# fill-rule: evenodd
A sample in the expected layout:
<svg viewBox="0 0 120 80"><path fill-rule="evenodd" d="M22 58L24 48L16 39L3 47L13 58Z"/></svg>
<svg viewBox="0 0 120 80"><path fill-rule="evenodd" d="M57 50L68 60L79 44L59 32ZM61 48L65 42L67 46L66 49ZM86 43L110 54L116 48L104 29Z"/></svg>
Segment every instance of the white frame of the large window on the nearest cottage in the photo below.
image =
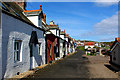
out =
<svg viewBox="0 0 120 80"><path fill-rule="evenodd" d="M15 60L15 41L20 41L20 50L19 50L19 60ZM23 49L23 41L21 39L13 39L13 59L14 62L22 62L22 49Z"/></svg>

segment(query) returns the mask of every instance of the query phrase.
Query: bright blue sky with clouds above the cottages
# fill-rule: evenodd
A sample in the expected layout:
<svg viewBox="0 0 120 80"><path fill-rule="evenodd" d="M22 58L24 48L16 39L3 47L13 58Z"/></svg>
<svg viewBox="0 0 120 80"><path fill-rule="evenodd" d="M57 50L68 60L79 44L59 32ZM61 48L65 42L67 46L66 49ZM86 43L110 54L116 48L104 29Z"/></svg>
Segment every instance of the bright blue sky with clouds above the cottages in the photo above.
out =
<svg viewBox="0 0 120 80"><path fill-rule="evenodd" d="M28 2L27 10L40 9L74 39L111 41L118 36L118 5L111 2Z"/></svg>

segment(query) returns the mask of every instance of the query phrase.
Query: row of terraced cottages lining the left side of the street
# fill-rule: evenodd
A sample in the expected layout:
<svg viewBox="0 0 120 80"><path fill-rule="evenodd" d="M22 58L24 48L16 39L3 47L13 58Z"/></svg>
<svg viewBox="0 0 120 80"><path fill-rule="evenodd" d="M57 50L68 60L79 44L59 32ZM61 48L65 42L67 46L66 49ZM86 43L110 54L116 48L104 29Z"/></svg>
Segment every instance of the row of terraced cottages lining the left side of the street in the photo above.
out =
<svg viewBox="0 0 120 80"><path fill-rule="evenodd" d="M74 39L53 21L46 24L42 6L29 11L26 2L0 2L0 6L0 79L75 52Z"/></svg>

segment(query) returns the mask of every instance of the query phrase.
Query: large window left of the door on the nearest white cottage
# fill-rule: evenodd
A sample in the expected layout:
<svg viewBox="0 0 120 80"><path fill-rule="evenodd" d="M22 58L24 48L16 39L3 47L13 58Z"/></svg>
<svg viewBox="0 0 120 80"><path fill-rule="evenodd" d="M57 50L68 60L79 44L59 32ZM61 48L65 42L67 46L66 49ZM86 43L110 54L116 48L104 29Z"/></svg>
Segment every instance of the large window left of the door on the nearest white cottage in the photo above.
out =
<svg viewBox="0 0 120 80"><path fill-rule="evenodd" d="M20 61L20 51L21 51L21 40L14 41L14 61Z"/></svg>

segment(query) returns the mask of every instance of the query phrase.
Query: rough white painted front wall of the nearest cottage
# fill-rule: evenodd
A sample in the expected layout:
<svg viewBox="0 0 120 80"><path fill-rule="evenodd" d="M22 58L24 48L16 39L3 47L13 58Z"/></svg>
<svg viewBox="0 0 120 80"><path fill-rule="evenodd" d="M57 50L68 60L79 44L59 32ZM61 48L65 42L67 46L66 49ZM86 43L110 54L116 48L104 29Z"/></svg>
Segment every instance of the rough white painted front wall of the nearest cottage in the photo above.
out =
<svg viewBox="0 0 120 80"><path fill-rule="evenodd" d="M7 22L7 23L6 23ZM37 32L39 42L42 45L42 56L38 54L38 47L34 50L35 66L45 64L45 38L43 37L43 31L38 30L31 25L28 25L14 17L2 14L2 75L5 78L10 78L17 74L17 72L25 72L30 69L30 49L29 40L32 30ZM22 61L14 62L13 53L13 39L19 38L22 40Z"/></svg>

